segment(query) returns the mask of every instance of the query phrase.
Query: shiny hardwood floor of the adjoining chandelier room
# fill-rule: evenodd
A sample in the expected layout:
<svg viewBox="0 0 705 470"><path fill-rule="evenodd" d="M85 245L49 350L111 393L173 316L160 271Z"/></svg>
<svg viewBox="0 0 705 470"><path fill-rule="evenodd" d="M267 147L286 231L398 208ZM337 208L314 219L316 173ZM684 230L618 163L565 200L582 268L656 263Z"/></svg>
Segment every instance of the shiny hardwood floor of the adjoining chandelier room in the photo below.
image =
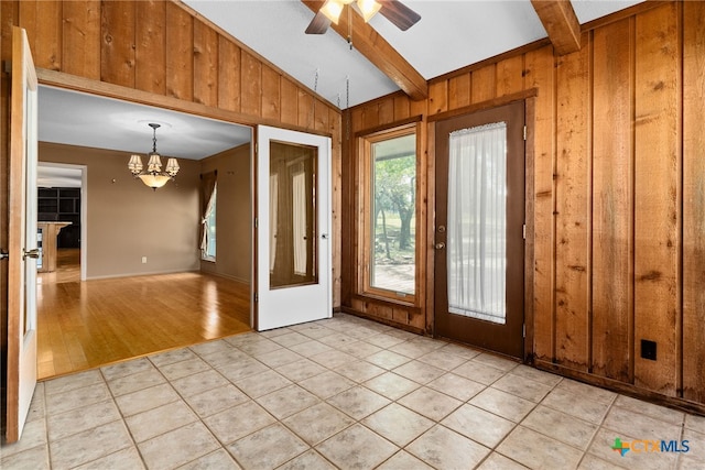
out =
<svg viewBox="0 0 705 470"><path fill-rule="evenodd" d="M250 330L249 286L225 277L80 282L58 271L37 283L40 379Z"/></svg>

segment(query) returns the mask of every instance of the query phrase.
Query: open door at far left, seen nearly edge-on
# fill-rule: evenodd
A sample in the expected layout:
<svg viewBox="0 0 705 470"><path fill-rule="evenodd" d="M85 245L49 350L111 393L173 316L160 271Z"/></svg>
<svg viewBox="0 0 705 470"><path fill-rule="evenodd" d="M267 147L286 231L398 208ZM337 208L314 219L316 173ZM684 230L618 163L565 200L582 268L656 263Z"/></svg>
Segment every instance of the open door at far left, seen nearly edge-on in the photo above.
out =
<svg viewBox="0 0 705 470"><path fill-rule="evenodd" d="M22 435L36 385L37 88L26 33L12 31L7 440Z"/></svg>

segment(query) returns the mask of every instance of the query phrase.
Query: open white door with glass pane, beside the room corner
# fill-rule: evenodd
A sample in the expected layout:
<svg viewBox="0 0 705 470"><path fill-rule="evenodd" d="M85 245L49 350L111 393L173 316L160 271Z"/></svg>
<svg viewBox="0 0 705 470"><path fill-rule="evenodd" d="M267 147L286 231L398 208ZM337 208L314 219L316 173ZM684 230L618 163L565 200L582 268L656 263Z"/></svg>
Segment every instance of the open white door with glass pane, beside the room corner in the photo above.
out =
<svg viewBox="0 0 705 470"><path fill-rule="evenodd" d="M330 139L258 127L257 329L329 318Z"/></svg>

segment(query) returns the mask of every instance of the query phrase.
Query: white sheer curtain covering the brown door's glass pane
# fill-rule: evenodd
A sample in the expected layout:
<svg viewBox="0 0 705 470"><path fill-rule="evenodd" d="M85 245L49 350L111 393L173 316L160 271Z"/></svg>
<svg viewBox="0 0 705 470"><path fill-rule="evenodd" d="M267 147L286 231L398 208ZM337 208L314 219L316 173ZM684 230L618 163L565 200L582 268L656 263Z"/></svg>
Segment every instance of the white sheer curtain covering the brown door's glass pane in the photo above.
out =
<svg viewBox="0 0 705 470"><path fill-rule="evenodd" d="M503 324L507 124L453 132L448 157L448 310Z"/></svg>

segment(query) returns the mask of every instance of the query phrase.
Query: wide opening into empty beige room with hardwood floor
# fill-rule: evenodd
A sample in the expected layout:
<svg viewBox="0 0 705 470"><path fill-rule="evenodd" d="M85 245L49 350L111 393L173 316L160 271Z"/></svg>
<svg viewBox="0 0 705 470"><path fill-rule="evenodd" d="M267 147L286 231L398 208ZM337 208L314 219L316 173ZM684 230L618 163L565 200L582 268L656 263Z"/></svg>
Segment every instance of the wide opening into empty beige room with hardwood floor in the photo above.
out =
<svg viewBox="0 0 705 470"><path fill-rule="evenodd" d="M80 174L75 187L37 178L40 200L59 209L47 221L80 217L78 251L57 240L56 259L80 274L40 284L39 378L251 330L252 129L48 86L39 96L40 165ZM163 157L181 165L156 190L128 168L152 146L149 122L161 123ZM200 175L214 171L223 223L217 254L204 261Z"/></svg>

